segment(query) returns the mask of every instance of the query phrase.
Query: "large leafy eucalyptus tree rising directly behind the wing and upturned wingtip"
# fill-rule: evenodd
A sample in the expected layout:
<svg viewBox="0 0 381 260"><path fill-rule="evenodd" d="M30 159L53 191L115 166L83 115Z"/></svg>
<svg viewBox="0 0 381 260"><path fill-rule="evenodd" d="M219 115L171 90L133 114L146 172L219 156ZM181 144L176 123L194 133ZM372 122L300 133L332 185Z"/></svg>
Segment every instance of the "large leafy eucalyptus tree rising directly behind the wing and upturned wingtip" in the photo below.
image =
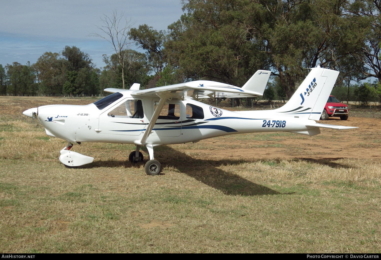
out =
<svg viewBox="0 0 381 260"><path fill-rule="evenodd" d="M245 38L242 6L248 1L188 1L187 14L168 26L165 51L177 73L242 86L268 55Z"/></svg>

